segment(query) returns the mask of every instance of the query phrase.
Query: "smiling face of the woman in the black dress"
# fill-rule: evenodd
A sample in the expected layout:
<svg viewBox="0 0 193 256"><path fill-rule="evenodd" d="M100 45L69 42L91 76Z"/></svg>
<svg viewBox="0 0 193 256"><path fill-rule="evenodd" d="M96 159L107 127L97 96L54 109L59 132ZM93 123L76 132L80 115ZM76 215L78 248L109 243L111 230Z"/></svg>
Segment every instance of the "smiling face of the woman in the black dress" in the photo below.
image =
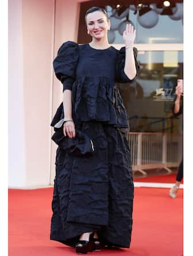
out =
<svg viewBox="0 0 193 256"><path fill-rule="evenodd" d="M88 32L93 38L100 39L107 36L110 23L103 12L97 10L89 13L86 16L86 24Z"/></svg>

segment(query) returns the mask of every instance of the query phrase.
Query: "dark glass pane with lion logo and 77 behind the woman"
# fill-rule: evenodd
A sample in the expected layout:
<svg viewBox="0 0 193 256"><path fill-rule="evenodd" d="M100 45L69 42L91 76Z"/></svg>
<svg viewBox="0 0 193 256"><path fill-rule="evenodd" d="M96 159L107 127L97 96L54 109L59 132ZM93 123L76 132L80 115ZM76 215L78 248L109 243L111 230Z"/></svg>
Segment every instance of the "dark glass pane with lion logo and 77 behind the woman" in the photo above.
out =
<svg viewBox="0 0 193 256"><path fill-rule="evenodd" d="M117 84L130 117L132 132L181 133L182 120L173 116L177 79L183 79L182 51L144 51L134 83Z"/></svg>

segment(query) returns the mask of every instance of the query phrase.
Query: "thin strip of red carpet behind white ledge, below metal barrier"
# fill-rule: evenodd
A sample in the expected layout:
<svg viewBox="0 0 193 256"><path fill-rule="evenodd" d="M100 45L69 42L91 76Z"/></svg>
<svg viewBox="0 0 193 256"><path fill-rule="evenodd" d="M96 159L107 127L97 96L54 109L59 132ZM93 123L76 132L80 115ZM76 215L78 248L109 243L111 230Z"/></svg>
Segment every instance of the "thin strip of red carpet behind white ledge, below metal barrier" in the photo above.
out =
<svg viewBox="0 0 193 256"><path fill-rule="evenodd" d="M176 183L176 174L172 173L169 175L141 177L141 178L135 178L134 181L153 182L153 183ZM181 181L181 184L183 184L183 180Z"/></svg>

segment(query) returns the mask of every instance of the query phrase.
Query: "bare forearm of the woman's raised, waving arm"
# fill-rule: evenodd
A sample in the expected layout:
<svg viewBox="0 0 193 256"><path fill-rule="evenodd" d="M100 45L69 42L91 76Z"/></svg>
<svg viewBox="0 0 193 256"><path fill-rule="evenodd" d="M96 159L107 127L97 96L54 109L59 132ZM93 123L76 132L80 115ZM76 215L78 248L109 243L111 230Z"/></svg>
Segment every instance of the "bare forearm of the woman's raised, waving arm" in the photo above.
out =
<svg viewBox="0 0 193 256"><path fill-rule="evenodd" d="M126 47L126 61L124 64L124 73L128 79L132 80L135 78L137 71L135 68L135 58L133 53L133 47Z"/></svg>

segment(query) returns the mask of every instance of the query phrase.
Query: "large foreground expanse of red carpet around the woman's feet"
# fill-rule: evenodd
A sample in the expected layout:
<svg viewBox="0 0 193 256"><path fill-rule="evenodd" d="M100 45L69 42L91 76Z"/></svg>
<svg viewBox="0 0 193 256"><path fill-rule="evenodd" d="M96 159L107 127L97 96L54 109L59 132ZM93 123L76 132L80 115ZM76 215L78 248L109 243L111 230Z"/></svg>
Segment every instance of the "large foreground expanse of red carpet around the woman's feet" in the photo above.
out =
<svg viewBox="0 0 193 256"><path fill-rule="evenodd" d="M52 188L9 190L9 256L68 256L74 248L50 240ZM88 255L183 255L183 190L135 188L131 248Z"/></svg>

